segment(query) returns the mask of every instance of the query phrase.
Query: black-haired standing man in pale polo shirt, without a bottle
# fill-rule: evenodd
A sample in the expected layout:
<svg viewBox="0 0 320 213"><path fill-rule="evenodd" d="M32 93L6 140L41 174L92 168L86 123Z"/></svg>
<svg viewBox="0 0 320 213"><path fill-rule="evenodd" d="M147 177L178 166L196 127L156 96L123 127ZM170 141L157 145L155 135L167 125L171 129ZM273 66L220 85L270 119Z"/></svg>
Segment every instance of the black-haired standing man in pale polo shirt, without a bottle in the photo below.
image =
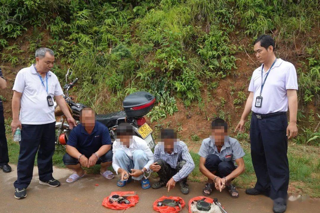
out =
<svg viewBox="0 0 320 213"><path fill-rule="evenodd" d="M252 74L250 95L236 127L236 130L244 131L245 119L252 111L251 156L257 183L246 193L269 194L274 201L273 211L282 213L287 207L289 185L288 139L298 133L297 73L291 63L276 58L275 42L271 36L261 35L253 45L262 65ZM289 125L286 116L288 106Z"/></svg>

